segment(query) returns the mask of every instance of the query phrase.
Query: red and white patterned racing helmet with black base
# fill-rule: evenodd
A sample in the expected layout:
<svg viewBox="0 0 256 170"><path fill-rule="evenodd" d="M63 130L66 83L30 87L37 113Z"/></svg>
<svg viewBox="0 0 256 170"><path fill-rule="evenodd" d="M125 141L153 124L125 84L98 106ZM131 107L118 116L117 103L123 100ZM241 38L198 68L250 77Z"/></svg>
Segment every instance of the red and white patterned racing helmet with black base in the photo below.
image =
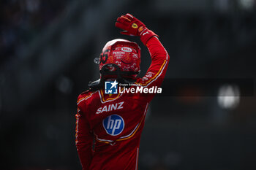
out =
<svg viewBox="0 0 256 170"><path fill-rule="evenodd" d="M105 80L112 78L122 83L135 82L140 73L140 47L126 39L113 39L94 62L99 64L100 79L89 82L89 90L102 88Z"/></svg>

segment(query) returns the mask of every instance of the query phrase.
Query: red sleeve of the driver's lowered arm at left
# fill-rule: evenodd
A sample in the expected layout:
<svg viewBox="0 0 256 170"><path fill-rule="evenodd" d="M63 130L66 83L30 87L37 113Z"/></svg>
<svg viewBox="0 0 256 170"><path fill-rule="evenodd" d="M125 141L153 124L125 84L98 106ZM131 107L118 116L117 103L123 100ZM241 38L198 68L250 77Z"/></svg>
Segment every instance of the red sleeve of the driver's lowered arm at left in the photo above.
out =
<svg viewBox="0 0 256 170"><path fill-rule="evenodd" d="M93 134L90 131L89 123L83 112L78 107L75 127L75 145L83 170L89 169L92 159Z"/></svg>

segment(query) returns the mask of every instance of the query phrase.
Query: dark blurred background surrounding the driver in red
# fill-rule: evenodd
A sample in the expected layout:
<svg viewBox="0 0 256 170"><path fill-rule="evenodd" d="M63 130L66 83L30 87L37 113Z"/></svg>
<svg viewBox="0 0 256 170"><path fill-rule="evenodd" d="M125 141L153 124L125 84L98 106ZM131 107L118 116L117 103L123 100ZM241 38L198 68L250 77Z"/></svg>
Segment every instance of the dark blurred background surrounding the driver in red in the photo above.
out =
<svg viewBox="0 0 256 170"><path fill-rule="evenodd" d="M99 78L94 58L124 38L142 48L140 77L150 65L138 37L114 26L127 12L160 36L166 79L255 80L255 0L1 0L0 169L81 169L76 98ZM140 170L256 169L255 99L228 84L215 96L193 88L156 96Z"/></svg>

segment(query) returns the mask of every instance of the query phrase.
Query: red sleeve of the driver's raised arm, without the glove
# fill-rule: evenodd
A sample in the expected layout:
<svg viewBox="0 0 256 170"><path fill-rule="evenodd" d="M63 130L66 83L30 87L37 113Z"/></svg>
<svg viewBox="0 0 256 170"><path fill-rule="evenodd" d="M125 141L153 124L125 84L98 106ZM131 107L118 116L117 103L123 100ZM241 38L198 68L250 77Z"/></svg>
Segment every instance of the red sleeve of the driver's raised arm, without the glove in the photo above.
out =
<svg viewBox="0 0 256 170"><path fill-rule="evenodd" d="M170 57L157 36L153 36L149 39L146 46L151 55L151 66L149 66L145 76L138 79L136 83L146 88L151 88L153 86L160 87L164 80ZM152 94L148 95L148 101L153 97L154 95Z"/></svg>

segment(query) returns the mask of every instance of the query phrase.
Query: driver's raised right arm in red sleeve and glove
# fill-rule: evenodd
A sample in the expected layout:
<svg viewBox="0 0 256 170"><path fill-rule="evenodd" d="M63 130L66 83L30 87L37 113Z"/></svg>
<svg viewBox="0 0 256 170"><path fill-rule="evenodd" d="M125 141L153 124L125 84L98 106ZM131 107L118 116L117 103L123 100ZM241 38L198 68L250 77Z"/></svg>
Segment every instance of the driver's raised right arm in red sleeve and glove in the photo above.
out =
<svg viewBox="0 0 256 170"><path fill-rule="evenodd" d="M142 79L138 79L136 83L145 88L159 87L165 77L170 59L165 47L159 41L159 36L130 14L122 15L118 18L116 27L124 30L121 31L121 34L140 36L141 42L148 47L151 55L151 66L148 68L145 76ZM151 100L153 96L151 95L148 100Z"/></svg>

